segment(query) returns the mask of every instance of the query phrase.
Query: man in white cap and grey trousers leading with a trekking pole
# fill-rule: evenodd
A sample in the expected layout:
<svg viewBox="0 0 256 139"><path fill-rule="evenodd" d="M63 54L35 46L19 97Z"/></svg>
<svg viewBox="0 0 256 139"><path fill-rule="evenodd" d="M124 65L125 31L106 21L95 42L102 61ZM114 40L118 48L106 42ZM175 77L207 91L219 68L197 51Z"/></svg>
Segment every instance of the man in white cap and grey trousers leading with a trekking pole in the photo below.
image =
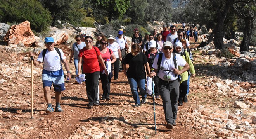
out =
<svg viewBox="0 0 256 139"><path fill-rule="evenodd" d="M182 56L175 54L175 57L173 58L174 54L175 53L173 53L173 45L171 42L164 42L163 54L156 56L152 65L154 71L150 72L149 75L150 77L158 76L159 78L159 93L163 100L163 109L165 120L167 122L166 128L168 129L172 129L173 126L176 126L175 120L177 118L180 90L178 75L189 70L189 64L182 58ZM160 59L159 56L161 56ZM173 61L173 59L175 59L176 62ZM184 68L179 70L178 66L183 66Z"/></svg>

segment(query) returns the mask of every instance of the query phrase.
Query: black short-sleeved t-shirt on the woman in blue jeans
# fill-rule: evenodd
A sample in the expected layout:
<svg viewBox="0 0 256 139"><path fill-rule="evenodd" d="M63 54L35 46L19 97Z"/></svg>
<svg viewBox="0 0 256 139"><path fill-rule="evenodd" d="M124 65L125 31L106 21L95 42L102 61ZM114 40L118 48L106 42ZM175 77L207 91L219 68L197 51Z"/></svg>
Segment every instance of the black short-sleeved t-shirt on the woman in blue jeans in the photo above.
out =
<svg viewBox="0 0 256 139"><path fill-rule="evenodd" d="M122 63L129 64L127 71L128 78L134 78L136 80L146 78L144 64L147 63L147 57L144 53L140 52L137 56L133 56L131 53L128 53L122 60Z"/></svg>

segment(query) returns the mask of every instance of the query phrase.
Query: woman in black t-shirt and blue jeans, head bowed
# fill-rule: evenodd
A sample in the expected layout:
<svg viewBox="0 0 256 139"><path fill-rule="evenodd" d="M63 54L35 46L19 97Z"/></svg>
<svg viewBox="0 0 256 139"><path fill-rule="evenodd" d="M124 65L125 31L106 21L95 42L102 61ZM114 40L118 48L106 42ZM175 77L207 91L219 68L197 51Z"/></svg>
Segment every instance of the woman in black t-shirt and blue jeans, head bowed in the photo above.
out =
<svg viewBox="0 0 256 139"><path fill-rule="evenodd" d="M146 72L149 75L149 63L144 53L140 52L140 46L135 43L131 46L131 53L128 53L122 60L124 67L124 74L128 78L128 82L131 87L133 99L135 101L135 107L139 107L140 104L146 103ZM126 64L129 64L129 68L126 72ZM146 66L146 71L145 71ZM137 87L138 86L138 87ZM138 88L140 90L142 100L138 95Z"/></svg>

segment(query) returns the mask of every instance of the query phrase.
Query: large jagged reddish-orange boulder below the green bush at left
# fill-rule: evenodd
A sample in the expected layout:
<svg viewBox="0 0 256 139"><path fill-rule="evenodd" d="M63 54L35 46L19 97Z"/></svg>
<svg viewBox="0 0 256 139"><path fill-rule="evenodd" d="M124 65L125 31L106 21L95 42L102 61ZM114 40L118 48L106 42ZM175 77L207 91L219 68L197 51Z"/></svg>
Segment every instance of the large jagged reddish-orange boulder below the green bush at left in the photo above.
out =
<svg viewBox="0 0 256 139"><path fill-rule="evenodd" d="M19 25L12 25L4 37L8 44L19 44L21 42L24 46L29 47L40 38L35 36L30 29L30 22L25 21Z"/></svg>

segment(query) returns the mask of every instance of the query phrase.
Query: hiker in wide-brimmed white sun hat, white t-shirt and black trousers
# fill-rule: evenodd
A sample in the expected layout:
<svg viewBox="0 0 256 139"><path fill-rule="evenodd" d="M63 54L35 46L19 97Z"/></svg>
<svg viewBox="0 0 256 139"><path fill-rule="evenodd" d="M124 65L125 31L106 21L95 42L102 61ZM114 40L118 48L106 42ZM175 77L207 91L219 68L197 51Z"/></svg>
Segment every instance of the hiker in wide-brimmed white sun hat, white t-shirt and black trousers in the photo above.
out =
<svg viewBox="0 0 256 139"><path fill-rule="evenodd" d="M117 42L114 42L116 39L112 35L107 40L109 42L107 48L111 49L116 56L116 61L112 63L112 66L114 67L114 80L118 80L119 60L122 61L120 46Z"/></svg>

